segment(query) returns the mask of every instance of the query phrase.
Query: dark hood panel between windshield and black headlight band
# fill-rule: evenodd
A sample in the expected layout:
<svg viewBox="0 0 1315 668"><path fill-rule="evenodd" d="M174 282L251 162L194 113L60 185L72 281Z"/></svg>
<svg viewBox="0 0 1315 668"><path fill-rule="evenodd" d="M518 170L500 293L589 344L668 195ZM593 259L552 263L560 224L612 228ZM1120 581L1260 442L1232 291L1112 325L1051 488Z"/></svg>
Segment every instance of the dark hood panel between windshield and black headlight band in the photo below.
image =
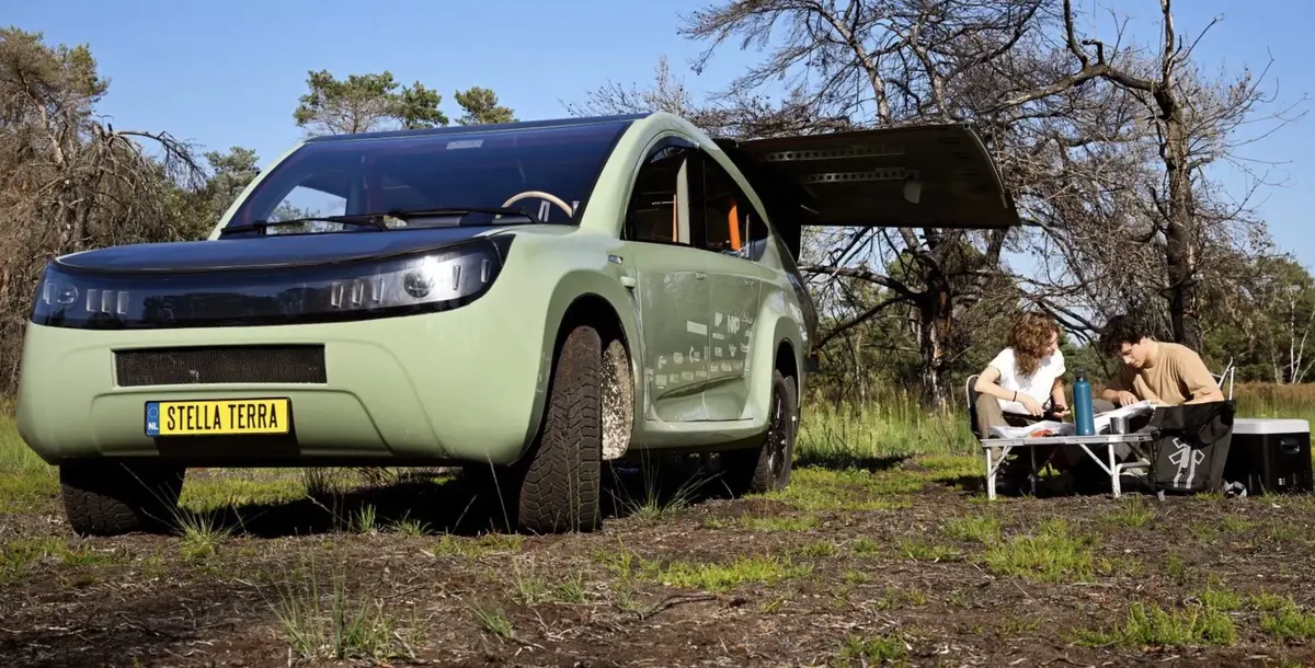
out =
<svg viewBox="0 0 1315 668"><path fill-rule="evenodd" d="M385 258L438 249L480 235L509 233L517 227L521 225L275 234L135 243L75 252L55 259L55 263L60 268L109 274L276 270Z"/></svg>

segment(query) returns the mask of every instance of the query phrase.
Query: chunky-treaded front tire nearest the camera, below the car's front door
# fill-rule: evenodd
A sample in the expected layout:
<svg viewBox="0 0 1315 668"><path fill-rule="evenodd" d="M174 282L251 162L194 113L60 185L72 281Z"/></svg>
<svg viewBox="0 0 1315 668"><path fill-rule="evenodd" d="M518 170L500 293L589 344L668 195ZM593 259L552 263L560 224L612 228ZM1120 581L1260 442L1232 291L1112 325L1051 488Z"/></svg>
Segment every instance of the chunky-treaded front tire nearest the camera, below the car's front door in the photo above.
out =
<svg viewBox="0 0 1315 668"><path fill-rule="evenodd" d="M598 331L588 326L562 343L539 438L518 476L521 531L592 531L601 523L602 350Z"/></svg>

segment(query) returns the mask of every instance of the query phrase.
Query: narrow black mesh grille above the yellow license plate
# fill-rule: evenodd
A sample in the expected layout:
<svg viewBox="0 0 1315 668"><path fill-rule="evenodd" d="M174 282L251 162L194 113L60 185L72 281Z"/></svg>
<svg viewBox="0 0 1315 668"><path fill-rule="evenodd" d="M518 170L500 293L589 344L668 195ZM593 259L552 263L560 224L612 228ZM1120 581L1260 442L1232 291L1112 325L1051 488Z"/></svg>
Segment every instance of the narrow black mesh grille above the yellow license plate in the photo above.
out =
<svg viewBox="0 0 1315 668"><path fill-rule="evenodd" d="M114 352L120 387L327 383L323 346L201 346Z"/></svg>

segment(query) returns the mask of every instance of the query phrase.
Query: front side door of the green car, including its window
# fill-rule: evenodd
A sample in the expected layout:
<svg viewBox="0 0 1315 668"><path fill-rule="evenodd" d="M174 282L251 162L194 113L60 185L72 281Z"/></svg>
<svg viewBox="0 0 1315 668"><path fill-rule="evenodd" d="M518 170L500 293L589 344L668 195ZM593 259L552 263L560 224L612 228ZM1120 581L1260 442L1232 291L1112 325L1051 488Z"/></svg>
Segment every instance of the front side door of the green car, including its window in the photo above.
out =
<svg viewBox="0 0 1315 668"><path fill-rule="evenodd" d="M626 209L648 419L707 419L702 391L711 291L705 252L694 246L690 229L697 209L690 206L689 184L697 160L693 143L661 139L644 158Z"/></svg>

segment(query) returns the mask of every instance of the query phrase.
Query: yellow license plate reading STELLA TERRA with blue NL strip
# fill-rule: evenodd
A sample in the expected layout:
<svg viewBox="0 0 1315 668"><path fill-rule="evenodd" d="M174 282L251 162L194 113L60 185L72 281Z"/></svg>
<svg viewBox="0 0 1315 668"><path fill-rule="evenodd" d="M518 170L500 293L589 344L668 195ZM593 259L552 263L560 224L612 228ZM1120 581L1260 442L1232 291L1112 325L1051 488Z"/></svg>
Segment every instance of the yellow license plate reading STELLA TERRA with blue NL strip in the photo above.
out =
<svg viewBox="0 0 1315 668"><path fill-rule="evenodd" d="M147 437L287 434L287 398L225 398L217 401L147 401Z"/></svg>

